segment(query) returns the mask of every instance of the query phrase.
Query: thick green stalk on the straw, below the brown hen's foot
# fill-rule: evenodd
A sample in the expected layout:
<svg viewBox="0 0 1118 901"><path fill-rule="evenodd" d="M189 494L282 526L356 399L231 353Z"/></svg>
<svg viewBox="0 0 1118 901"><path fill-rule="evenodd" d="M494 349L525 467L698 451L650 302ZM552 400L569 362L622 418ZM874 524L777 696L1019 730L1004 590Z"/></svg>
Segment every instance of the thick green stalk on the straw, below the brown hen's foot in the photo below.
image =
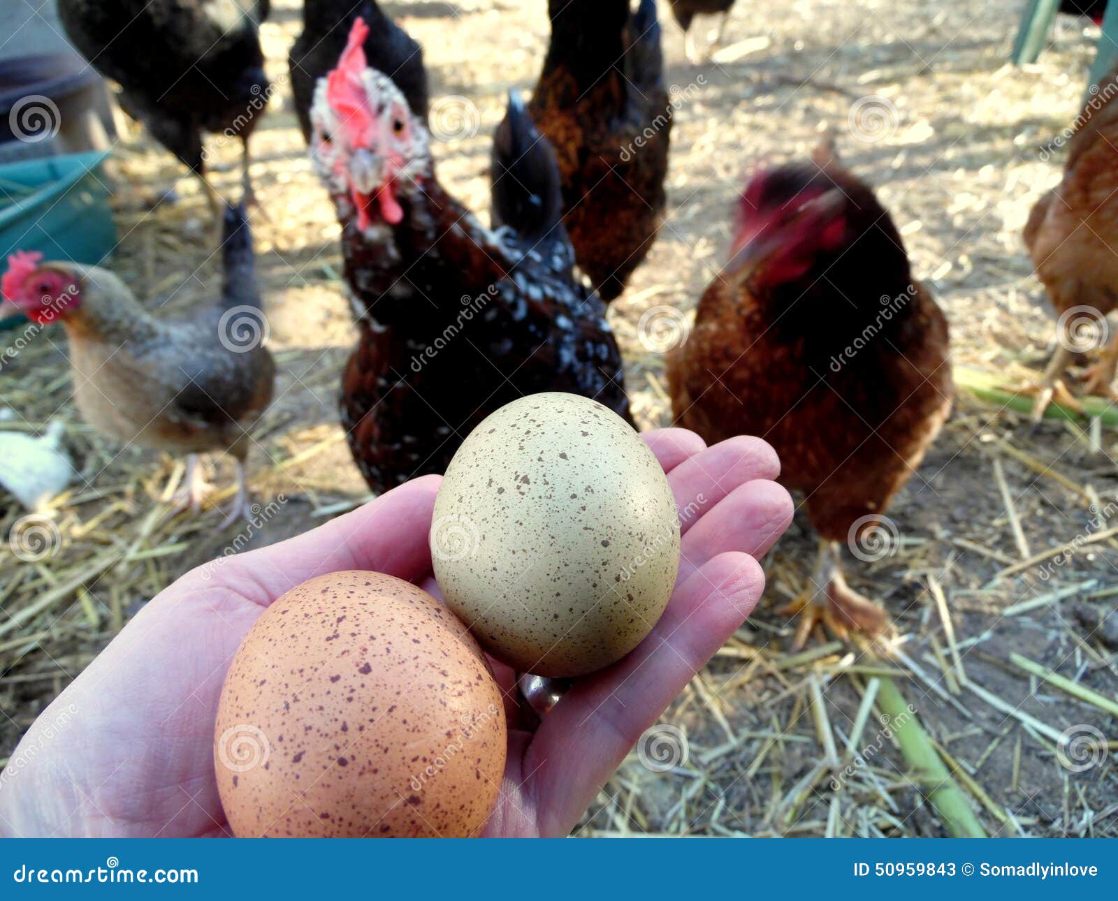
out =
<svg viewBox="0 0 1118 901"><path fill-rule="evenodd" d="M890 728L901 755L912 770L913 780L923 786L948 834L954 838L986 838L986 831L970 809L967 796L951 778L928 733L910 712L908 703L891 679L881 680L878 709L882 714L890 715Z"/></svg>

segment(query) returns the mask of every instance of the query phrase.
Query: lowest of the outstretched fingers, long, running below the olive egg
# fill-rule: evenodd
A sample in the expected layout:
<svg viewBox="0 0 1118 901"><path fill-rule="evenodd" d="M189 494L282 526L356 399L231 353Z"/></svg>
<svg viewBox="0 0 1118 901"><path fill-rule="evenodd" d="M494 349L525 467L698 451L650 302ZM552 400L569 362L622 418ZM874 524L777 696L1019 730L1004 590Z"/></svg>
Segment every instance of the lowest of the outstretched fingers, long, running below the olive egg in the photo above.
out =
<svg viewBox="0 0 1118 901"><path fill-rule="evenodd" d="M757 605L760 566L743 553L707 562L676 589L652 634L625 660L576 683L543 718L524 772L543 833L566 835L598 789Z"/></svg>

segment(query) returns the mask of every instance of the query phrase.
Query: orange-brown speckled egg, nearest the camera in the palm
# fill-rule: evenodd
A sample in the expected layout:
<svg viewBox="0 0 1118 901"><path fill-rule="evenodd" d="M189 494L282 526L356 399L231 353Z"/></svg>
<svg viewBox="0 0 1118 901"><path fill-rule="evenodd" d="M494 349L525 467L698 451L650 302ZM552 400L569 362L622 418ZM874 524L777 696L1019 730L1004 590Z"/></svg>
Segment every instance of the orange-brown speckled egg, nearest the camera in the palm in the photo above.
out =
<svg viewBox="0 0 1118 901"><path fill-rule="evenodd" d="M508 734L477 643L410 582L334 572L256 622L218 704L214 764L238 836L467 836Z"/></svg>

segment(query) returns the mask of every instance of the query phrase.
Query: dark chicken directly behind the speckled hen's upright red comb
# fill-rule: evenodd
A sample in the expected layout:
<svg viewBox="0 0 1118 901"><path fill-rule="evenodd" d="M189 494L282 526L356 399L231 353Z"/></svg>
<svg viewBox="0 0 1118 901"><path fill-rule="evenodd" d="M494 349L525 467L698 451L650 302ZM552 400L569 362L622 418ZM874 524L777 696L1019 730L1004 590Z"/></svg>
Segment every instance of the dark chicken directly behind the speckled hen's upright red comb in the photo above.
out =
<svg viewBox="0 0 1118 901"><path fill-rule="evenodd" d="M295 95L295 114L307 141L311 140L314 86L338 64L358 16L369 27L369 36L364 39L364 56L369 65L387 73L404 93L411 112L427 121L429 102L423 49L381 11L375 0L305 0L303 32L292 45L287 66L291 89Z"/></svg>

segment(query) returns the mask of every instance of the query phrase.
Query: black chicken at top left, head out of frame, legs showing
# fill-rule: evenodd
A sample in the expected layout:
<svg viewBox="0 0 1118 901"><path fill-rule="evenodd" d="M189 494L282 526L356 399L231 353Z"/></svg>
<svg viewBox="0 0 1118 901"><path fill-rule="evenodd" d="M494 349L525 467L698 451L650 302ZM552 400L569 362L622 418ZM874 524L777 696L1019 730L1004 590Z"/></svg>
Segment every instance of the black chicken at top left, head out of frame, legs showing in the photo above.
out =
<svg viewBox="0 0 1118 901"><path fill-rule="evenodd" d="M206 177L202 133L241 142L250 199L248 141L269 95L257 34L267 11L247 0L58 0L70 42L120 84L124 111L200 179L217 221L224 202Z"/></svg>

